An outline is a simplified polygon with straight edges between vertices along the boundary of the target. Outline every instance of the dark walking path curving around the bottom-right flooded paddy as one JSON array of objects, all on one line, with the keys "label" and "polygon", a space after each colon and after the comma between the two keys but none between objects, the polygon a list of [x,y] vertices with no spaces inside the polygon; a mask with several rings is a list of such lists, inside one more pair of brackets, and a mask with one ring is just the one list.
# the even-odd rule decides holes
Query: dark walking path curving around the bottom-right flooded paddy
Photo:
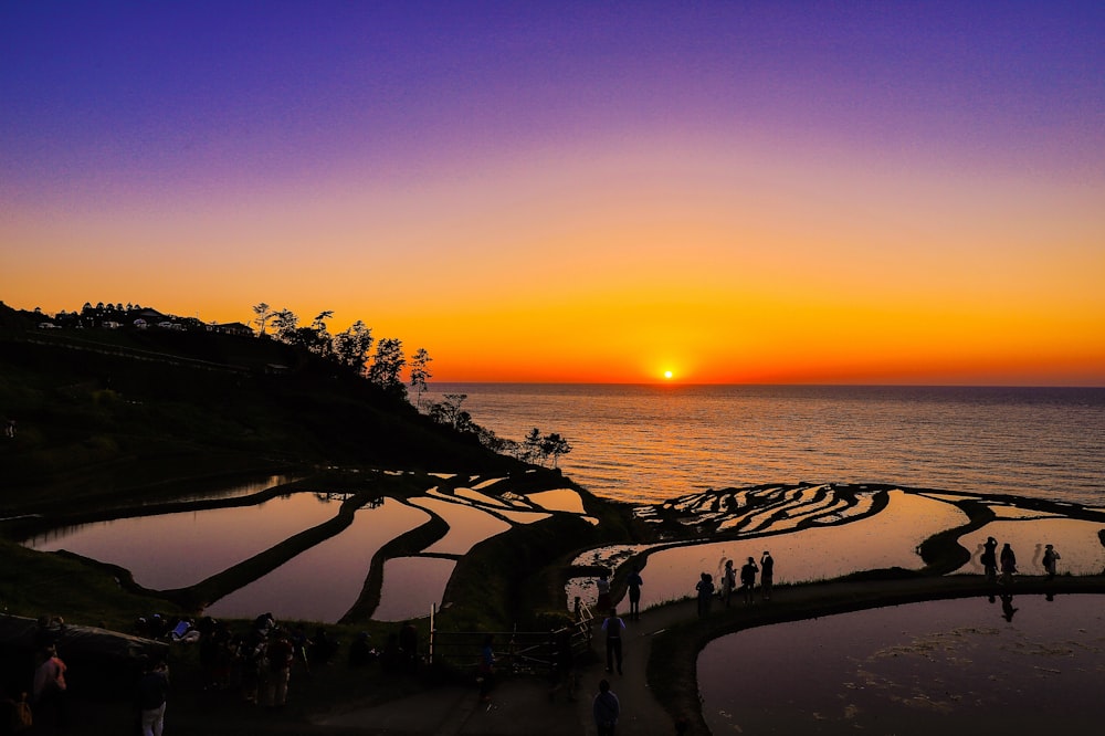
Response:
[{"label": "dark walking path curving around the bottom-right flooded paddy", "polygon": [[[1062,577],[1053,583],[1038,578],[1022,578],[1008,590],[1017,595],[1042,595],[1045,591],[1105,592],[1103,577]],[[746,607],[734,601],[733,608],[722,612],[714,602],[714,612],[697,623],[696,602],[676,601],[641,613],[639,621],[625,621],[623,638],[623,675],[606,672],[604,642],[596,622],[594,654],[592,661],[577,667],[575,700],[560,693],[556,701],[549,698],[548,682],[539,677],[518,676],[503,680],[492,693],[491,703],[478,701],[475,687],[442,686],[411,695],[383,705],[329,715],[315,721],[318,726],[340,734],[369,736],[499,736],[532,734],[534,736],[564,736],[565,734],[597,734],[591,716],[591,701],[599,688],[599,681],[607,679],[611,691],[621,702],[620,734],[640,736],[675,733],[673,717],[664,709],[648,680],[649,658],[657,634],[672,629],[681,645],[673,660],[693,660],[699,640],[760,625],[772,621],[788,621],[814,616],[860,610],[877,606],[899,604],[911,601],[966,596],[985,596],[990,591],[977,576],[945,576],[882,581],[835,581],[796,587],[777,587],[775,601]],[[667,664],[665,664],[667,666]],[[687,667],[686,662],[671,662],[676,670]],[[666,702],[686,703],[692,729],[703,733],[704,724],[697,711],[690,712],[697,703],[697,685],[693,669],[686,677],[677,680],[681,693],[665,693]],[[684,682],[686,680],[687,682]]]}]

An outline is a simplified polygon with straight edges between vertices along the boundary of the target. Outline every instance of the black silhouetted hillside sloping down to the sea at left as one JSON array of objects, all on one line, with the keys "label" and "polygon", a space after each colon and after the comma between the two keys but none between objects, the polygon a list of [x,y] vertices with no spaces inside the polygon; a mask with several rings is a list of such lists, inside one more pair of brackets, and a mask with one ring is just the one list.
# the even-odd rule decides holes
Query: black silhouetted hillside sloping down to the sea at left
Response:
[{"label": "black silhouetted hillside sloping down to the sea at left", "polygon": [[42,328],[0,304],[0,514],[127,503],[228,473],[517,466],[367,380],[272,339]]}]

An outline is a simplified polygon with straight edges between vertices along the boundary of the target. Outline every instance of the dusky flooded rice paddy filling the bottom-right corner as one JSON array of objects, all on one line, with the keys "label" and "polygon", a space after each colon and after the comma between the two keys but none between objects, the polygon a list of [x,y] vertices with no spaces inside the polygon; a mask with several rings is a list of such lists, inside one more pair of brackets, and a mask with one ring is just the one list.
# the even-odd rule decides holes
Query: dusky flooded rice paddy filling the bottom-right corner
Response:
[{"label": "dusky flooded rice paddy filling the bottom-right corner", "polygon": [[1105,597],[887,607],[749,629],[697,663],[715,734],[1092,734]]}]

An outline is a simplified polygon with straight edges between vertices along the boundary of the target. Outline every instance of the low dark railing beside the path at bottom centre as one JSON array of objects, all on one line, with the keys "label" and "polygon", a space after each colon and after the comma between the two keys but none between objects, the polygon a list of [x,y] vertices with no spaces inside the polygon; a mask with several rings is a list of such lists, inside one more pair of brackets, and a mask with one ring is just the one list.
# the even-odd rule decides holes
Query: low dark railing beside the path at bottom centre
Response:
[{"label": "low dark railing beside the path at bottom centre", "polygon": [[579,620],[555,631],[439,631],[436,610],[430,611],[429,662],[459,671],[475,669],[487,637],[492,638],[495,669],[509,674],[549,674],[557,660],[557,642],[569,638],[571,651],[580,656],[591,649],[593,617],[586,606]]}]

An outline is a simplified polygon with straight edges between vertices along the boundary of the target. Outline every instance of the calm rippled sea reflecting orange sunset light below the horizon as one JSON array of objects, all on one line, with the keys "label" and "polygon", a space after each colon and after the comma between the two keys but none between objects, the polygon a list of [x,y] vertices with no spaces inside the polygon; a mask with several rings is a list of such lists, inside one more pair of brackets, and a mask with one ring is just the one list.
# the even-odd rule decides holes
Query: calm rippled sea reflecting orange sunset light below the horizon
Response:
[{"label": "calm rippled sea reflecting orange sunset light below the horizon", "polygon": [[572,445],[592,493],[890,483],[1105,505],[1105,388],[434,383],[473,420]]}]

